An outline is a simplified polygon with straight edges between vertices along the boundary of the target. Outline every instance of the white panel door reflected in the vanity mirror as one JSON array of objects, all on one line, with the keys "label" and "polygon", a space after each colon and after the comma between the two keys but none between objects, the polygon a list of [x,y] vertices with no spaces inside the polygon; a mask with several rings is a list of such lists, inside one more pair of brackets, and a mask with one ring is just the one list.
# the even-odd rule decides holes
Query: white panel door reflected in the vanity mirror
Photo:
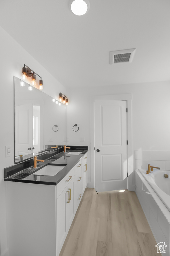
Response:
[{"label": "white panel door reflected in the vanity mirror", "polygon": [[15,156],[28,154],[33,154],[32,104],[15,106]]}]

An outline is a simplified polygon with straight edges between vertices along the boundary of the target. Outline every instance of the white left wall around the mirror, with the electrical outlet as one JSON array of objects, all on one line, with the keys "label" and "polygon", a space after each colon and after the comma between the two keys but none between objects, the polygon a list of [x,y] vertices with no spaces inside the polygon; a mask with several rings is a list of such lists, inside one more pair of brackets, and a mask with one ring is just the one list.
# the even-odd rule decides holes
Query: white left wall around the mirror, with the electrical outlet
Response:
[{"label": "white left wall around the mirror, with the electrical outlet", "polygon": [[[8,255],[6,232],[6,199],[3,168],[14,164],[14,88],[13,76],[21,78],[22,67],[28,65],[42,76],[43,91],[58,98],[65,88],[0,27],[0,256]],[[12,156],[5,156],[5,146],[11,145]]]}]

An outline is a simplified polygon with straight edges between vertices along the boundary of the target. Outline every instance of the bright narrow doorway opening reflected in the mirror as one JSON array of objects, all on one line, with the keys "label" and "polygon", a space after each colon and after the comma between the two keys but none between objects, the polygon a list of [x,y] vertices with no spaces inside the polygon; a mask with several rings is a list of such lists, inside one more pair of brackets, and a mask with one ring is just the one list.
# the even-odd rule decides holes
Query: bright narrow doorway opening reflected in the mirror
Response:
[{"label": "bright narrow doorway opening reflected in the mirror", "polygon": [[40,148],[40,106],[33,106],[33,148],[39,152]]}]

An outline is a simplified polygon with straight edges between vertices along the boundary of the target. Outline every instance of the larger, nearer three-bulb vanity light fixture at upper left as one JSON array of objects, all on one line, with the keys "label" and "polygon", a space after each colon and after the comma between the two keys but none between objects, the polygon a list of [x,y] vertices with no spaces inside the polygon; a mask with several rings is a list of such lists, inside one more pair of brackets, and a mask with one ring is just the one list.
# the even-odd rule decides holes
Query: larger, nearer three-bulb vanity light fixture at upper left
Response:
[{"label": "larger, nearer three-bulb vanity light fixture at upper left", "polygon": [[[34,86],[36,85],[36,75],[39,76],[36,72],[34,72],[31,68],[29,68],[27,65],[24,64],[24,67],[22,68],[22,79],[23,80],[27,80],[27,77],[31,77],[32,81],[31,81],[31,84]],[[35,75],[36,74],[36,75]],[[40,77],[40,80],[39,80],[39,90],[42,90],[43,89],[43,81],[42,81],[42,78],[41,76]],[[31,86],[29,86],[31,87]],[[31,90],[31,89],[29,89]]]}]

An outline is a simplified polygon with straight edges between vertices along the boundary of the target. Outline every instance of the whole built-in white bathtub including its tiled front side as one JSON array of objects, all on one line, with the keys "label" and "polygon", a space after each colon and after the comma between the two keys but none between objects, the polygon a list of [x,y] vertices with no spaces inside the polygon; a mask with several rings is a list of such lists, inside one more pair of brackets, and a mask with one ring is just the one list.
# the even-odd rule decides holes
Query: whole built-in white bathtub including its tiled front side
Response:
[{"label": "whole built-in white bathtub including its tiled front side", "polygon": [[155,246],[164,242],[166,253],[162,255],[170,256],[170,171],[154,169],[146,174],[144,169],[135,170],[135,192],[155,237]]}]

